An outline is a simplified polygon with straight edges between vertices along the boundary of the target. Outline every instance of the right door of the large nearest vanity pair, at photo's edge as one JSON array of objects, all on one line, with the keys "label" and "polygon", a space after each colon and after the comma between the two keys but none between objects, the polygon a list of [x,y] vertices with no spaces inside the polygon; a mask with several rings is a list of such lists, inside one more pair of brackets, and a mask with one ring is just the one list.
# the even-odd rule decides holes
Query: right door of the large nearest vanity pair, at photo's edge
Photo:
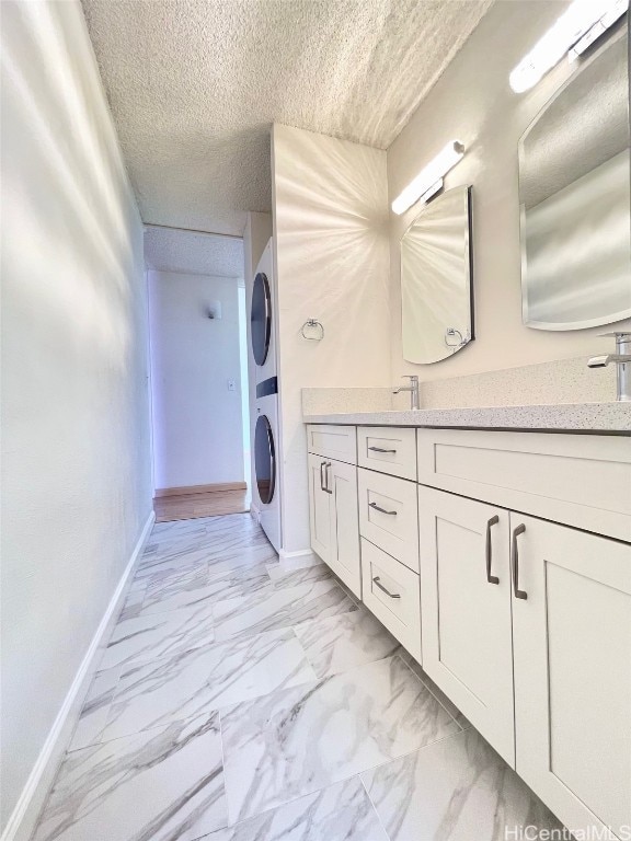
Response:
[{"label": "right door of the large nearest vanity pair, at photo's edge", "polygon": [[631,546],[513,512],[510,527],[517,771],[570,830],[628,838]]}]

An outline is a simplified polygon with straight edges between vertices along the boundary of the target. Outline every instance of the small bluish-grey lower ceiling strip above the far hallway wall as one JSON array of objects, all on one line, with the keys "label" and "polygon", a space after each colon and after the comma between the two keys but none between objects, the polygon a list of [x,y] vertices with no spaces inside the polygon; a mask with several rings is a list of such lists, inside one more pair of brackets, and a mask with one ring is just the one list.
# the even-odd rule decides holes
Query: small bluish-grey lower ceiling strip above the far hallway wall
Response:
[{"label": "small bluish-grey lower ceiling strip above the far hallway wall", "polygon": [[243,277],[243,240],[147,228],[145,263],[159,272]]}]

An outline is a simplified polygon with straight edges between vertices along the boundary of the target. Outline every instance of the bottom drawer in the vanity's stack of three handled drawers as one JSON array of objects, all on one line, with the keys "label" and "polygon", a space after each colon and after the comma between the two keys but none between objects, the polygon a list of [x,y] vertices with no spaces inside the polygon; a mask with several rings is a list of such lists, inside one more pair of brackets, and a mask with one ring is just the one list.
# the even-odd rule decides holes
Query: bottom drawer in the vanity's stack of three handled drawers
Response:
[{"label": "bottom drawer in the vanity's stack of three handled drawers", "polygon": [[421,585],[416,573],[362,538],[364,603],[421,663]]}]

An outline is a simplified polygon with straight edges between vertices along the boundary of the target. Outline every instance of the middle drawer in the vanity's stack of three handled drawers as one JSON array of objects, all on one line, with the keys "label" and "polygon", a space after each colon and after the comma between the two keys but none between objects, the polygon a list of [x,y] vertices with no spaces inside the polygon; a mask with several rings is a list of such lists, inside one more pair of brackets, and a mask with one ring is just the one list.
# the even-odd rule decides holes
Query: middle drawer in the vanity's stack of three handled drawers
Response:
[{"label": "middle drawer in the vanity's stack of three handled drawers", "polygon": [[416,484],[358,470],[359,534],[418,572]]}]

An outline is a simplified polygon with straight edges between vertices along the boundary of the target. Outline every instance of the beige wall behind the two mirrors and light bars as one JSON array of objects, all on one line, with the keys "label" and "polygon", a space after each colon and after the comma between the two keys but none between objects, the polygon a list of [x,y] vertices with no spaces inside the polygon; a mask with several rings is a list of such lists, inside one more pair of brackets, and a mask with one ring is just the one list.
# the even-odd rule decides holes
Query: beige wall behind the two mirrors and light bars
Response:
[{"label": "beige wall behind the two mirrors and light bars", "polygon": [[[401,353],[399,239],[417,212],[391,214],[392,376],[423,380],[510,368],[612,349],[611,327],[550,333],[521,324],[517,142],[571,72],[560,62],[538,85],[515,94],[508,74],[565,8],[550,0],[498,0],[388,150],[390,201],[451,139],[467,147],[446,189],[473,185],[475,335],[469,347],[428,366]],[[619,322],[631,325],[630,321]]]}]

